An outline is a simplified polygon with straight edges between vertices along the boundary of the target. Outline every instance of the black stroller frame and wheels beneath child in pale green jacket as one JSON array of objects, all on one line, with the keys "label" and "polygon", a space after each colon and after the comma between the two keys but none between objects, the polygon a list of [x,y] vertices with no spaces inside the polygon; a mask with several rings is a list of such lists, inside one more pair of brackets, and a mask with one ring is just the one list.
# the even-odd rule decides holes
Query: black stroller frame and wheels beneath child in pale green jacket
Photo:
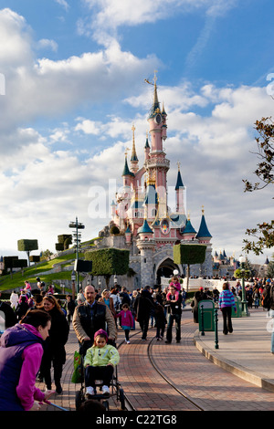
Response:
[{"label": "black stroller frame and wheels beneath child in pale green jacket", "polygon": [[[85,369],[84,369],[85,351],[81,346],[79,348],[79,353],[80,353],[80,384],[81,384],[81,386],[80,386],[80,390],[78,392],[76,392],[76,396],[75,396],[76,410],[79,410],[80,405],[87,400],[87,398],[86,398],[86,385],[85,385]],[[113,376],[111,379],[110,393],[103,394],[101,392],[102,380],[97,380],[95,382],[95,384],[96,384],[96,393],[92,395],[92,400],[99,401],[105,407],[106,411],[109,411],[109,409],[110,409],[109,399],[111,397],[116,396],[116,401],[121,404],[121,410],[125,410],[125,397],[124,397],[124,392],[121,389],[121,384],[118,381],[117,366],[114,368]]]}]

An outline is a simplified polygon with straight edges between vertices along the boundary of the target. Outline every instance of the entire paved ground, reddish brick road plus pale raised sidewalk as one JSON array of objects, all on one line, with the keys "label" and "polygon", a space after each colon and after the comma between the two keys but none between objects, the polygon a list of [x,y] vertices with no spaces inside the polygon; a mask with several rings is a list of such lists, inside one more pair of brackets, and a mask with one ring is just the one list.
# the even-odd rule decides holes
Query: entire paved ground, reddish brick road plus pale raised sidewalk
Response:
[{"label": "entire paved ground, reddish brick road plus pale raised sidewalk", "polygon": [[[205,331],[202,336],[189,310],[183,313],[179,344],[153,340],[154,328],[149,330],[147,341],[141,340],[137,330],[132,331],[131,344],[123,343],[119,349],[121,387],[134,409],[141,412],[273,411],[274,355],[270,353],[269,321],[266,311],[252,309],[250,317],[234,318],[234,332],[225,336],[219,313],[218,349],[215,332]],[[119,330],[119,339],[122,338]],[[53,403],[69,411],[75,411],[75,394],[79,390],[79,384],[70,382],[75,350],[78,345],[70,330],[63,394],[52,398]],[[43,384],[39,387],[43,388]],[[110,405],[111,410],[120,408],[114,400]],[[58,411],[43,405],[45,409]]]}]

